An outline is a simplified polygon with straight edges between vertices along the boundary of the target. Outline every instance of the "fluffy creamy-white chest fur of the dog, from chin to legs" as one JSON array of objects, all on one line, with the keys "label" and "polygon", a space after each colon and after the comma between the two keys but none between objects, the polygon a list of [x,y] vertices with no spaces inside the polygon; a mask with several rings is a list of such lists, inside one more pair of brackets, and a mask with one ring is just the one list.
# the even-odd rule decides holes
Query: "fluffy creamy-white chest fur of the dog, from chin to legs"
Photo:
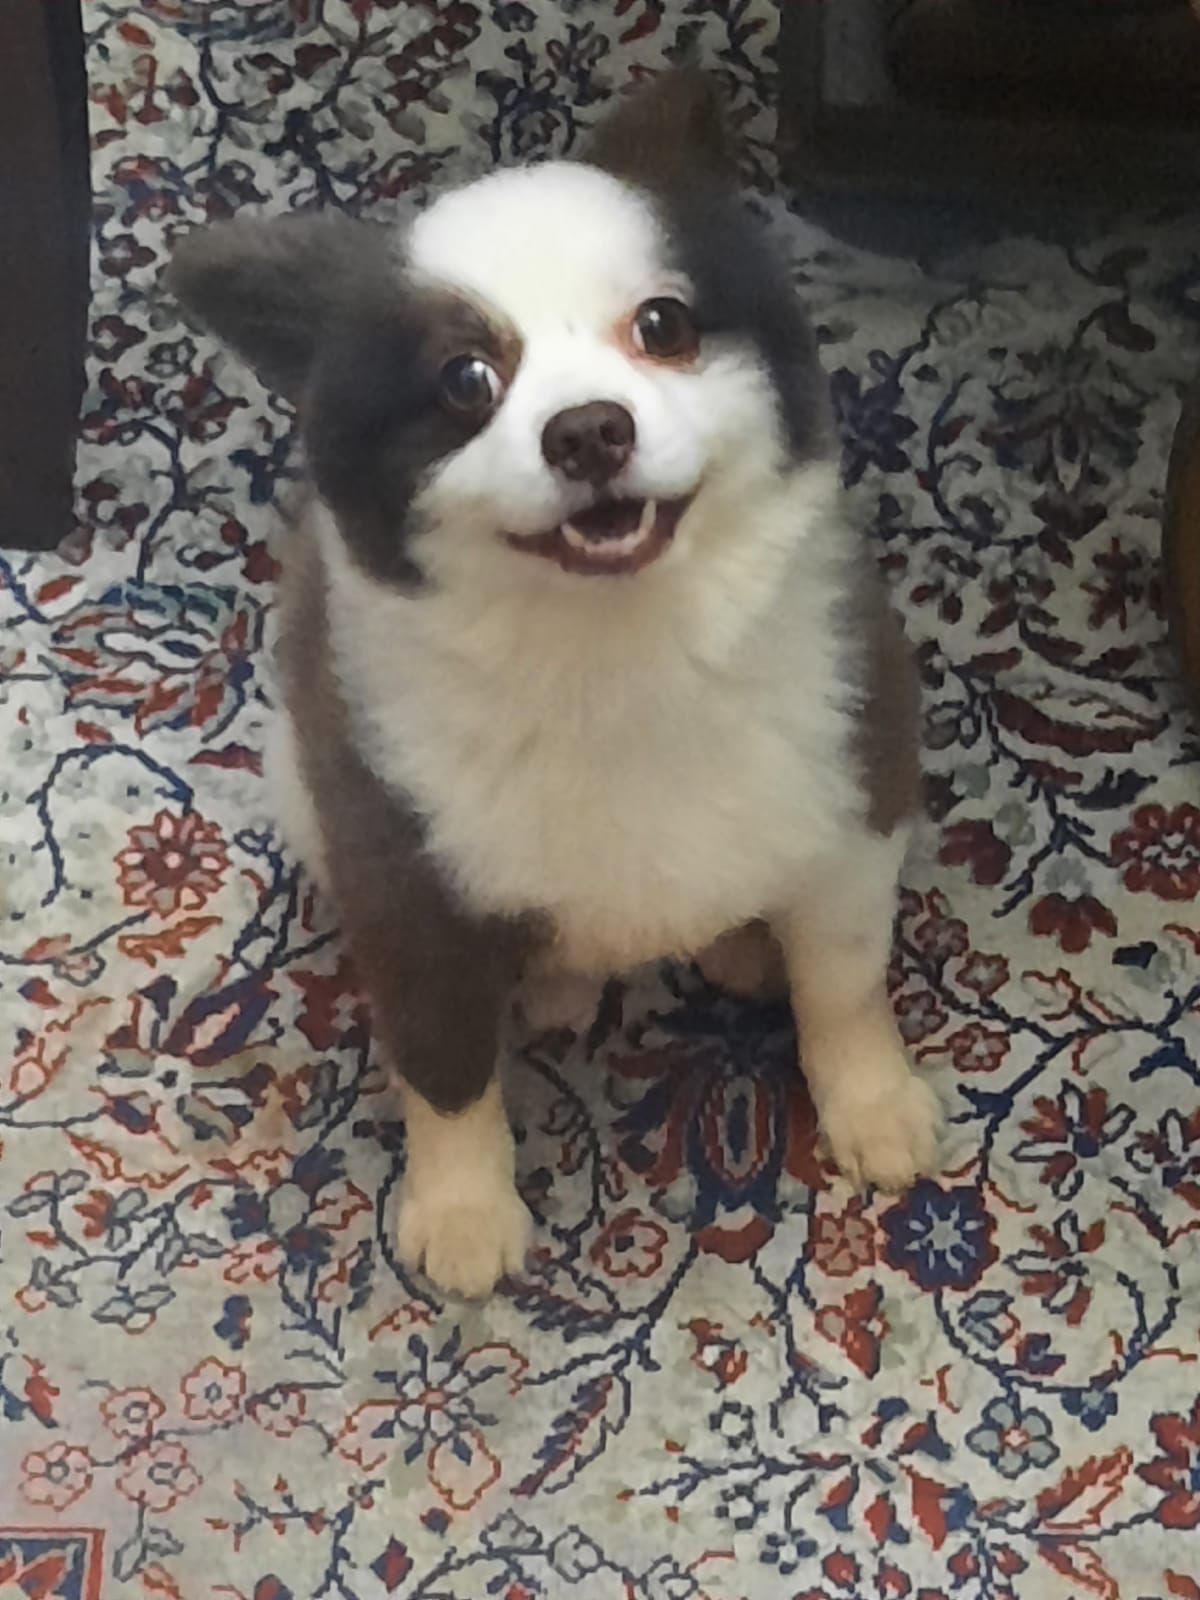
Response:
[{"label": "fluffy creamy-white chest fur of the dog, from chin to legs", "polygon": [[763,544],[725,581],[709,562],[704,592],[682,563],[474,605],[381,595],[334,541],[365,755],[464,896],[549,912],[565,965],[622,970],[770,912],[861,810],[827,541],[790,538],[770,573]]}]

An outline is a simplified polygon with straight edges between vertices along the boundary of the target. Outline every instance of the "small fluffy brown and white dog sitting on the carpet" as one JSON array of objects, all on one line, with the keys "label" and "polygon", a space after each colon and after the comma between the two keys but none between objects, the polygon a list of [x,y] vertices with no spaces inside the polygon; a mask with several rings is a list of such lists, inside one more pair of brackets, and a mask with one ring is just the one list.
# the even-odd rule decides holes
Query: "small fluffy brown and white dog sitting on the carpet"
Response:
[{"label": "small fluffy brown and white dog sitting on the carpet", "polygon": [[587,162],[173,262],[299,410],[272,765],[403,1085],[400,1254],[466,1294],[530,1237],[496,1069],[531,974],[778,965],[842,1170],[934,1155],[885,984],[914,664],[717,115],[669,74]]}]

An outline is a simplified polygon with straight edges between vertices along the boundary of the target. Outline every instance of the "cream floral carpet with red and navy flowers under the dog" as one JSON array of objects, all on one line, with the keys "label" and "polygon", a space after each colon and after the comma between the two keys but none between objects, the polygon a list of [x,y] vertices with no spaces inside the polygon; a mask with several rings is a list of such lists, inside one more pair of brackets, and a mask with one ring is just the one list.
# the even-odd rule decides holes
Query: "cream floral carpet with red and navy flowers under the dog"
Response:
[{"label": "cream floral carpet with red and navy flowers under the dog", "polygon": [[82,526],[0,558],[0,1595],[1200,1600],[1200,747],[1155,554],[1200,256],[923,269],[763,202],[920,646],[893,968],[946,1170],[856,1198],[787,1016],[669,968],[512,1062],[528,1270],[394,1258],[403,1128],[262,795],[291,418],[173,230],[386,211],[771,8],[90,0]]}]

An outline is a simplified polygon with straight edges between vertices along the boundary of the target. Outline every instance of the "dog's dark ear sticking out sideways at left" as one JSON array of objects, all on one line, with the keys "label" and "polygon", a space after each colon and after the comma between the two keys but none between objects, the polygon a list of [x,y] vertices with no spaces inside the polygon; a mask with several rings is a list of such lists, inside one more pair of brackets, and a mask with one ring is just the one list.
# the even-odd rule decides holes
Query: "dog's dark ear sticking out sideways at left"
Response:
[{"label": "dog's dark ear sticking out sideways at left", "polygon": [[237,218],[184,235],[166,285],[200,326],[298,400],[322,334],[400,286],[397,237],[338,214]]}]

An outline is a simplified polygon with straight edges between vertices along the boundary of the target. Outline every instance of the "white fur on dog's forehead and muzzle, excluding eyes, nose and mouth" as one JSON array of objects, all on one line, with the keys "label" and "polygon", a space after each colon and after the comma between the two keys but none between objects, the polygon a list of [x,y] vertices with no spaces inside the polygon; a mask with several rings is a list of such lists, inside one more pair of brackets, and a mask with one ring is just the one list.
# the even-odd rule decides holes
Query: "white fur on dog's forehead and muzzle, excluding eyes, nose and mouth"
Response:
[{"label": "white fur on dog's forehead and muzzle, excluding eyes, nose and mouth", "polygon": [[[709,341],[693,366],[638,357],[621,342],[637,307],[654,296],[691,298],[669,264],[646,198],[595,168],[547,163],[494,173],[446,195],[413,227],[413,272],[475,298],[522,341],[517,376],[490,424],[443,462],[414,510],[430,525],[421,562],[442,584],[491,584],[482,546],[498,534],[542,533],[590,502],[542,459],[555,413],[614,400],[634,416],[637,446],[613,488],[638,499],[704,493],[685,518],[677,550],[704,522],[718,480],[742,480],[747,443],[758,477],[782,454],[771,386],[752,350]],[[546,563],[502,547],[523,576]]]}]

